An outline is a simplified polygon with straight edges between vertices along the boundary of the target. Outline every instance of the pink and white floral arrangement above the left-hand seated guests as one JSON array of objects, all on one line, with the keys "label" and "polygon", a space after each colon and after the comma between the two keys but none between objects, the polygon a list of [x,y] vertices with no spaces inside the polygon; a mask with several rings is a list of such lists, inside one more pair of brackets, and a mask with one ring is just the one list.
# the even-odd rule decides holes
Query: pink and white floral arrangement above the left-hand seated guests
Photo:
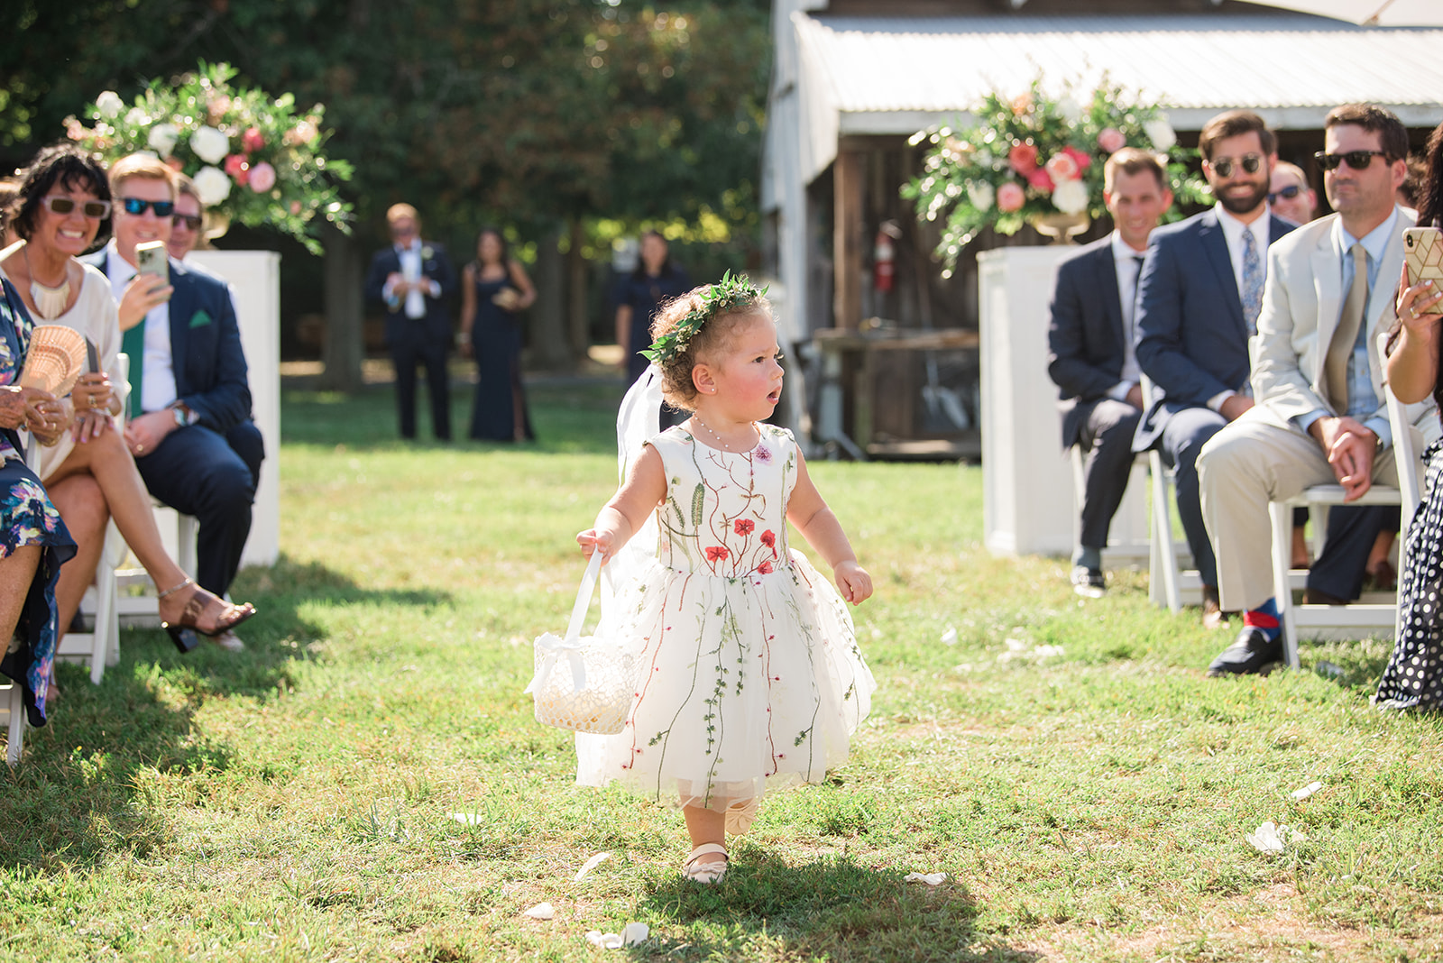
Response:
[{"label": "pink and white floral arrangement above the left-hand seated guests", "polygon": [[107,164],[152,153],[195,182],[208,213],[276,228],[320,254],[320,222],[351,229],[338,185],[352,167],[326,156],[325,107],[297,111],[293,95],[232,86],[234,78],[229,63],[201,61],[193,74],[152,81],[130,105],[102,92],[85,111],[91,125],[66,117],[65,131]]}]

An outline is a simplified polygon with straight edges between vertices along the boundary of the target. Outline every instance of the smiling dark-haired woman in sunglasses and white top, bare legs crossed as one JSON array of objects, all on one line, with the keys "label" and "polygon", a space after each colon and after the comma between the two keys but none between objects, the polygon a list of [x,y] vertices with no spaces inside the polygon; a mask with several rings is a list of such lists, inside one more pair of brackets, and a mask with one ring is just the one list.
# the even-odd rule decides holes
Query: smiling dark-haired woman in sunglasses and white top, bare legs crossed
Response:
[{"label": "smiling dark-haired woman in sunglasses and white top, bare legs crossed", "polygon": [[186,630],[214,637],[255,610],[229,605],[195,585],[166,554],[150,494],[115,427],[127,394],[117,369],[117,306],[105,275],[75,259],[95,245],[102,229],[108,234],[110,210],[110,182],[100,164],[71,146],[46,148],[26,170],[16,198],[12,226],[22,241],[0,261],[0,274],[14,283],[36,323],[78,330],[95,345],[100,362],[100,370],[82,375],[71,391],[74,424],[53,447],[42,448],[38,471],[74,533],[101,533],[81,535],[75,561],[61,571],[55,593],[61,630],[95,577],[108,516],[160,590],[160,620],[186,652],[193,646]]}]

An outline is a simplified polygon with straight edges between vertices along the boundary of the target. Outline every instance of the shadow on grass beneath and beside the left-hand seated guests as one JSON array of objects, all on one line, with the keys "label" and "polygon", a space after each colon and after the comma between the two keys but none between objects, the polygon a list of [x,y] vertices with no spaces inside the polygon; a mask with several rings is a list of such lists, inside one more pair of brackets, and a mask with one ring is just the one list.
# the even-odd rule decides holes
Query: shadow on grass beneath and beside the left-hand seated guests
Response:
[{"label": "shadow on grass beneath and beside the left-hand seated guests", "polygon": [[234,595],[258,608],[238,629],[244,653],[202,640],[180,654],[160,630],[127,629],[120,665],[98,686],[88,666],[58,667],[62,695],[49,724],[26,734],[19,767],[0,768],[7,830],[0,833],[0,869],[63,874],[163,849],[173,835],[166,813],[176,800],[159,794],[176,793],[182,806],[203,809],[211,780],[182,777],[244,764],[225,740],[195,725],[196,714],[211,699],[264,705],[296,686],[296,667],[315,657],[309,643],[323,634],[302,605],[450,603],[443,591],[364,590],[325,565],[284,556],[244,571]]}]

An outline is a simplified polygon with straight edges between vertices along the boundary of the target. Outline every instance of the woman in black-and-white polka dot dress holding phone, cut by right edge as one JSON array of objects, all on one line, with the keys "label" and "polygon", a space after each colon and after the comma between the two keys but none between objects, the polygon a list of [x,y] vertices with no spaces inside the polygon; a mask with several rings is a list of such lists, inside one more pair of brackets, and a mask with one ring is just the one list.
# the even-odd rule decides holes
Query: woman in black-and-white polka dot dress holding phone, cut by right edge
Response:
[{"label": "woman in black-and-white polka dot dress holding phone, cut by right edge", "polygon": [[[1443,216],[1443,125],[1429,138],[1429,176],[1418,203],[1418,225],[1437,226]],[[1398,401],[1420,402],[1430,394],[1443,409],[1439,382],[1439,321],[1443,291],[1433,281],[1400,284],[1398,324],[1388,355],[1388,385]],[[1380,708],[1443,709],[1443,441],[1429,445],[1427,494],[1408,528],[1408,554],[1398,591],[1400,631],[1392,657],[1378,682]]]}]

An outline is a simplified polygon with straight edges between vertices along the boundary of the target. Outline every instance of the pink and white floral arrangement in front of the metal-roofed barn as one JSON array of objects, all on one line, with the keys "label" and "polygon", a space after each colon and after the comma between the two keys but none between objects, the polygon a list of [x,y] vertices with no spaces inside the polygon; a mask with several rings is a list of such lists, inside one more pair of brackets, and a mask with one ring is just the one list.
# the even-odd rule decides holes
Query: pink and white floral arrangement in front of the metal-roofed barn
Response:
[{"label": "pink and white floral arrangement in front of the metal-roofed barn", "polygon": [[1105,75],[1091,98],[1078,98],[1072,84],[1049,97],[1039,76],[1017,97],[987,94],[974,117],[970,127],[929,127],[909,141],[929,146],[902,196],[915,202],[918,221],[942,219],[935,254],[944,277],[986,228],[1010,235],[1052,215],[1101,218],[1102,164],[1123,147],[1165,159],[1176,198],[1169,219],[1180,206],[1212,202],[1198,151],[1177,146],[1167,112]]}]

